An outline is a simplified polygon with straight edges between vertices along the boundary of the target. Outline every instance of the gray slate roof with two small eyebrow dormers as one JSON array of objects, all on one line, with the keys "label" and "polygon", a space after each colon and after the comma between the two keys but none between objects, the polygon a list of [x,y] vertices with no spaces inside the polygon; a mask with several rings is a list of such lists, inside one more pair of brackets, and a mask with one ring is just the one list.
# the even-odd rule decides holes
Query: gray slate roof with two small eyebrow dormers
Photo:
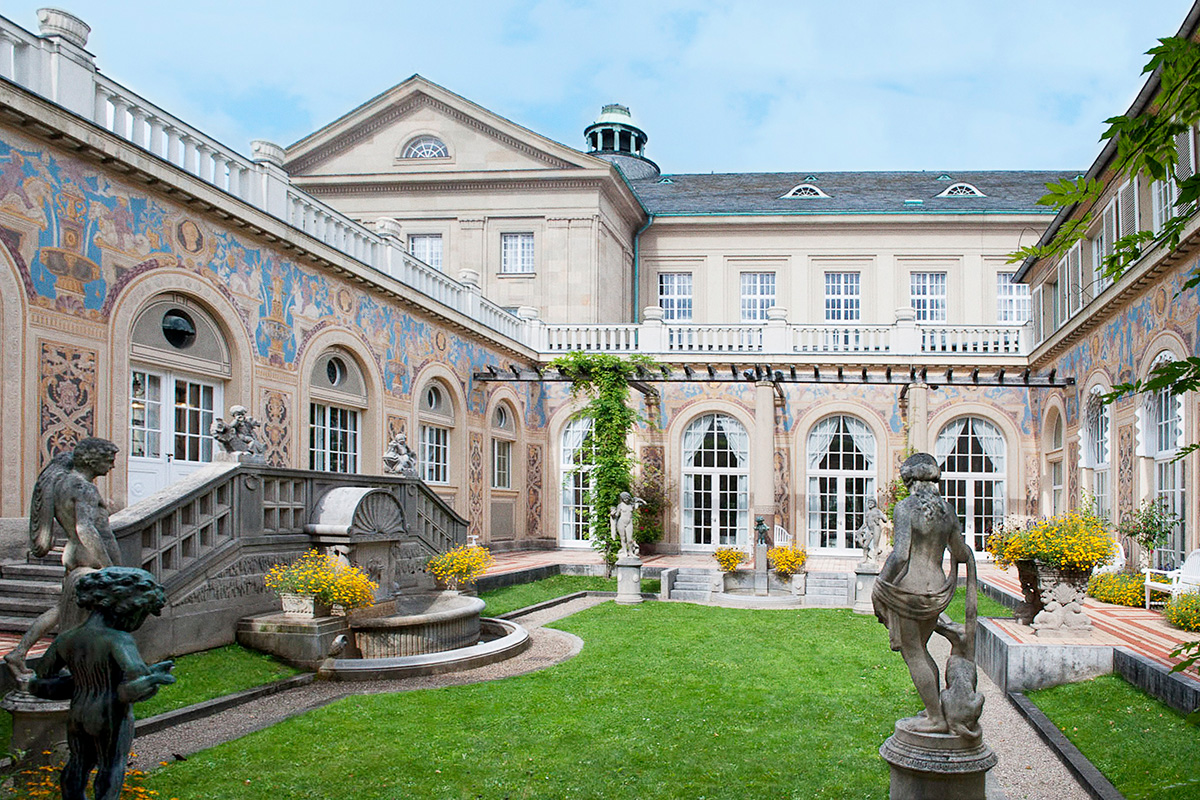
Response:
[{"label": "gray slate roof with two small eyebrow dormers", "polygon": [[[654,215],[1054,213],[1052,209],[1036,204],[1045,194],[1045,185],[1079,174],[1079,170],[726,173],[662,175],[629,184],[646,210]],[[662,182],[664,179],[671,182]],[[937,197],[956,182],[971,184],[986,197]],[[812,184],[829,198],[781,199],[800,184]]]}]

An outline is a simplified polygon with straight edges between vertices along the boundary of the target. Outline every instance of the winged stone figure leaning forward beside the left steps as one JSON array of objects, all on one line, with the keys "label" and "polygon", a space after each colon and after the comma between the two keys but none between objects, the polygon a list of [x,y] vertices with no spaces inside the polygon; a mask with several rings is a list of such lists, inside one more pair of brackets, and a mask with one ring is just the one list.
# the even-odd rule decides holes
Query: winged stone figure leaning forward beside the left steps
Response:
[{"label": "winged stone figure leaning forward beside the left steps", "polygon": [[37,476],[29,511],[29,551],[43,558],[54,546],[55,534],[66,536],[62,548],[62,594],[56,606],[42,613],[4,660],[18,679],[32,674],[25,666],[29,649],[54,630],[82,621],[74,602],[74,584],[91,571],[120,561],[116,539],[108,525],[108,507],[92,482],[113,469],[116,445],[107,439],[88,438],[70,453],[55,456]]}]

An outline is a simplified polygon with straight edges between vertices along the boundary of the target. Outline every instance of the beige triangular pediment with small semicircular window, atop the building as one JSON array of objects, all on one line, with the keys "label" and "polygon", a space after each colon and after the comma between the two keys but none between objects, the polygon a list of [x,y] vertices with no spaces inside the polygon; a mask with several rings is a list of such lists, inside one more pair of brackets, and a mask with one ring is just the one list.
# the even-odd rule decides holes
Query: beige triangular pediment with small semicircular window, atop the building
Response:
[{"label": "beige triangular pediment with small semicircular window, atop the building", "polygon": [[[416,142],[444,155],[406,157]],[[414,76],[287,149],[290,175],[403,175],[606,169],[607,163],[521,127]]]}]

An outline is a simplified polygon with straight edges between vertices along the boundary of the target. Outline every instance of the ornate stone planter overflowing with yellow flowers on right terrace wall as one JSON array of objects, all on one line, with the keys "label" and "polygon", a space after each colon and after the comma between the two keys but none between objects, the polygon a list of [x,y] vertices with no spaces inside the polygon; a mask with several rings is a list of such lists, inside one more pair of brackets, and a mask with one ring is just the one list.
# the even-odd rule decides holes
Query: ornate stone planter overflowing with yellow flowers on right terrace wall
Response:
[{"label": "ornate stone planter overflowing with yellow flowers on right terrace wall", "polygon": [[[1052,604],[1049,612],[1056,615],[1056,626],[1086,627],[1090,622],[1082,613],[1082,599],[1087,579],[1093,569],[1112,560],[1116,542],[1104,519],[1088,506],[1057,517],[1030,521],[1021,527],[1002,527],[989,537],[988,549],[998,566],[1016,564],[1019,575],[1025,563],[1021,590],[1026,604],[1042,606],[1032,615],[1031,622],[1036,627],[1039,620],[1043,627],[1049,625],[1046,604]],[[1036,575],[1037,589],[1033,593],[1026,589],[1030,563]],[[1022,610],[1026,613],[1018,619],[1025,622],[1030,614],[1027,609]],[[1057,625],[1058,621],[1063,625]]]}]

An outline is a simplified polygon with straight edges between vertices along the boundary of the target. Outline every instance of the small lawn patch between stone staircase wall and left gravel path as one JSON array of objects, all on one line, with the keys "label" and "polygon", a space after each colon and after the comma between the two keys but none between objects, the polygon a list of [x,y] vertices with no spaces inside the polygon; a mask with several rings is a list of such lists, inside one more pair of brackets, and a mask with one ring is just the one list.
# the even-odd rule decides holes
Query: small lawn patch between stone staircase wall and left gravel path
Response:
[{"label": "small lawn patch between stone staircase wall and left gravel path", "polygon": [[[265,652],[230,644],[175,658],[176,681],[134,706],[139,720],[300,674]],[[7,715],[6,715],[7,716]]]}]

